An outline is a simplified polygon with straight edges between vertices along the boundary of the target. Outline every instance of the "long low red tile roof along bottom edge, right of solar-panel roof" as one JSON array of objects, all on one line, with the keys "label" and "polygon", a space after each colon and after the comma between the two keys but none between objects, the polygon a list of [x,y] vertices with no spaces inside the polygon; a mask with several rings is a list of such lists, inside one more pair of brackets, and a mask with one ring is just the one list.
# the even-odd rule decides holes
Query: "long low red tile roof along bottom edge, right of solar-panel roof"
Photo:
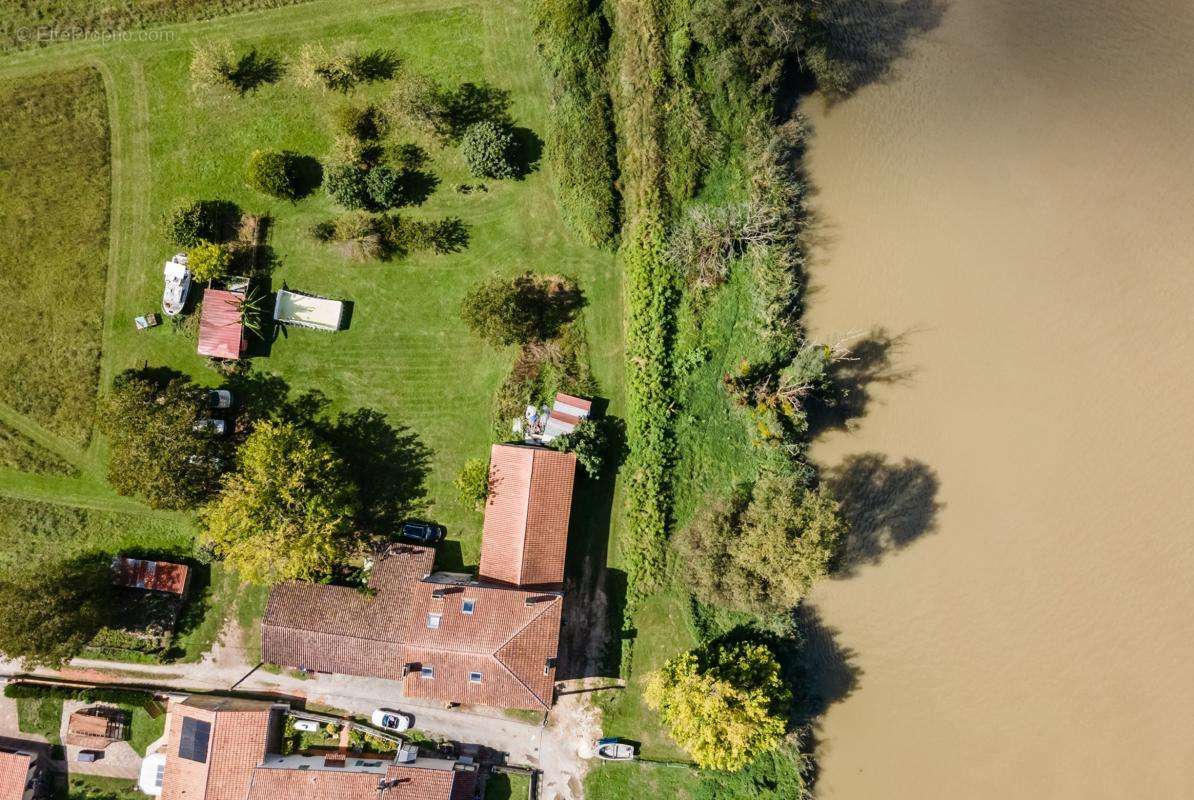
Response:
[{"label": "long low red tile roof along bottom edge, right of solar-panel roof", "polygon": [[[378,792],[382,780],[384,793]],[[475,781],[472,769],[401,764],[390,764],[384,774],[263,767],[253,770],[247,800],[472,800]]]}]

